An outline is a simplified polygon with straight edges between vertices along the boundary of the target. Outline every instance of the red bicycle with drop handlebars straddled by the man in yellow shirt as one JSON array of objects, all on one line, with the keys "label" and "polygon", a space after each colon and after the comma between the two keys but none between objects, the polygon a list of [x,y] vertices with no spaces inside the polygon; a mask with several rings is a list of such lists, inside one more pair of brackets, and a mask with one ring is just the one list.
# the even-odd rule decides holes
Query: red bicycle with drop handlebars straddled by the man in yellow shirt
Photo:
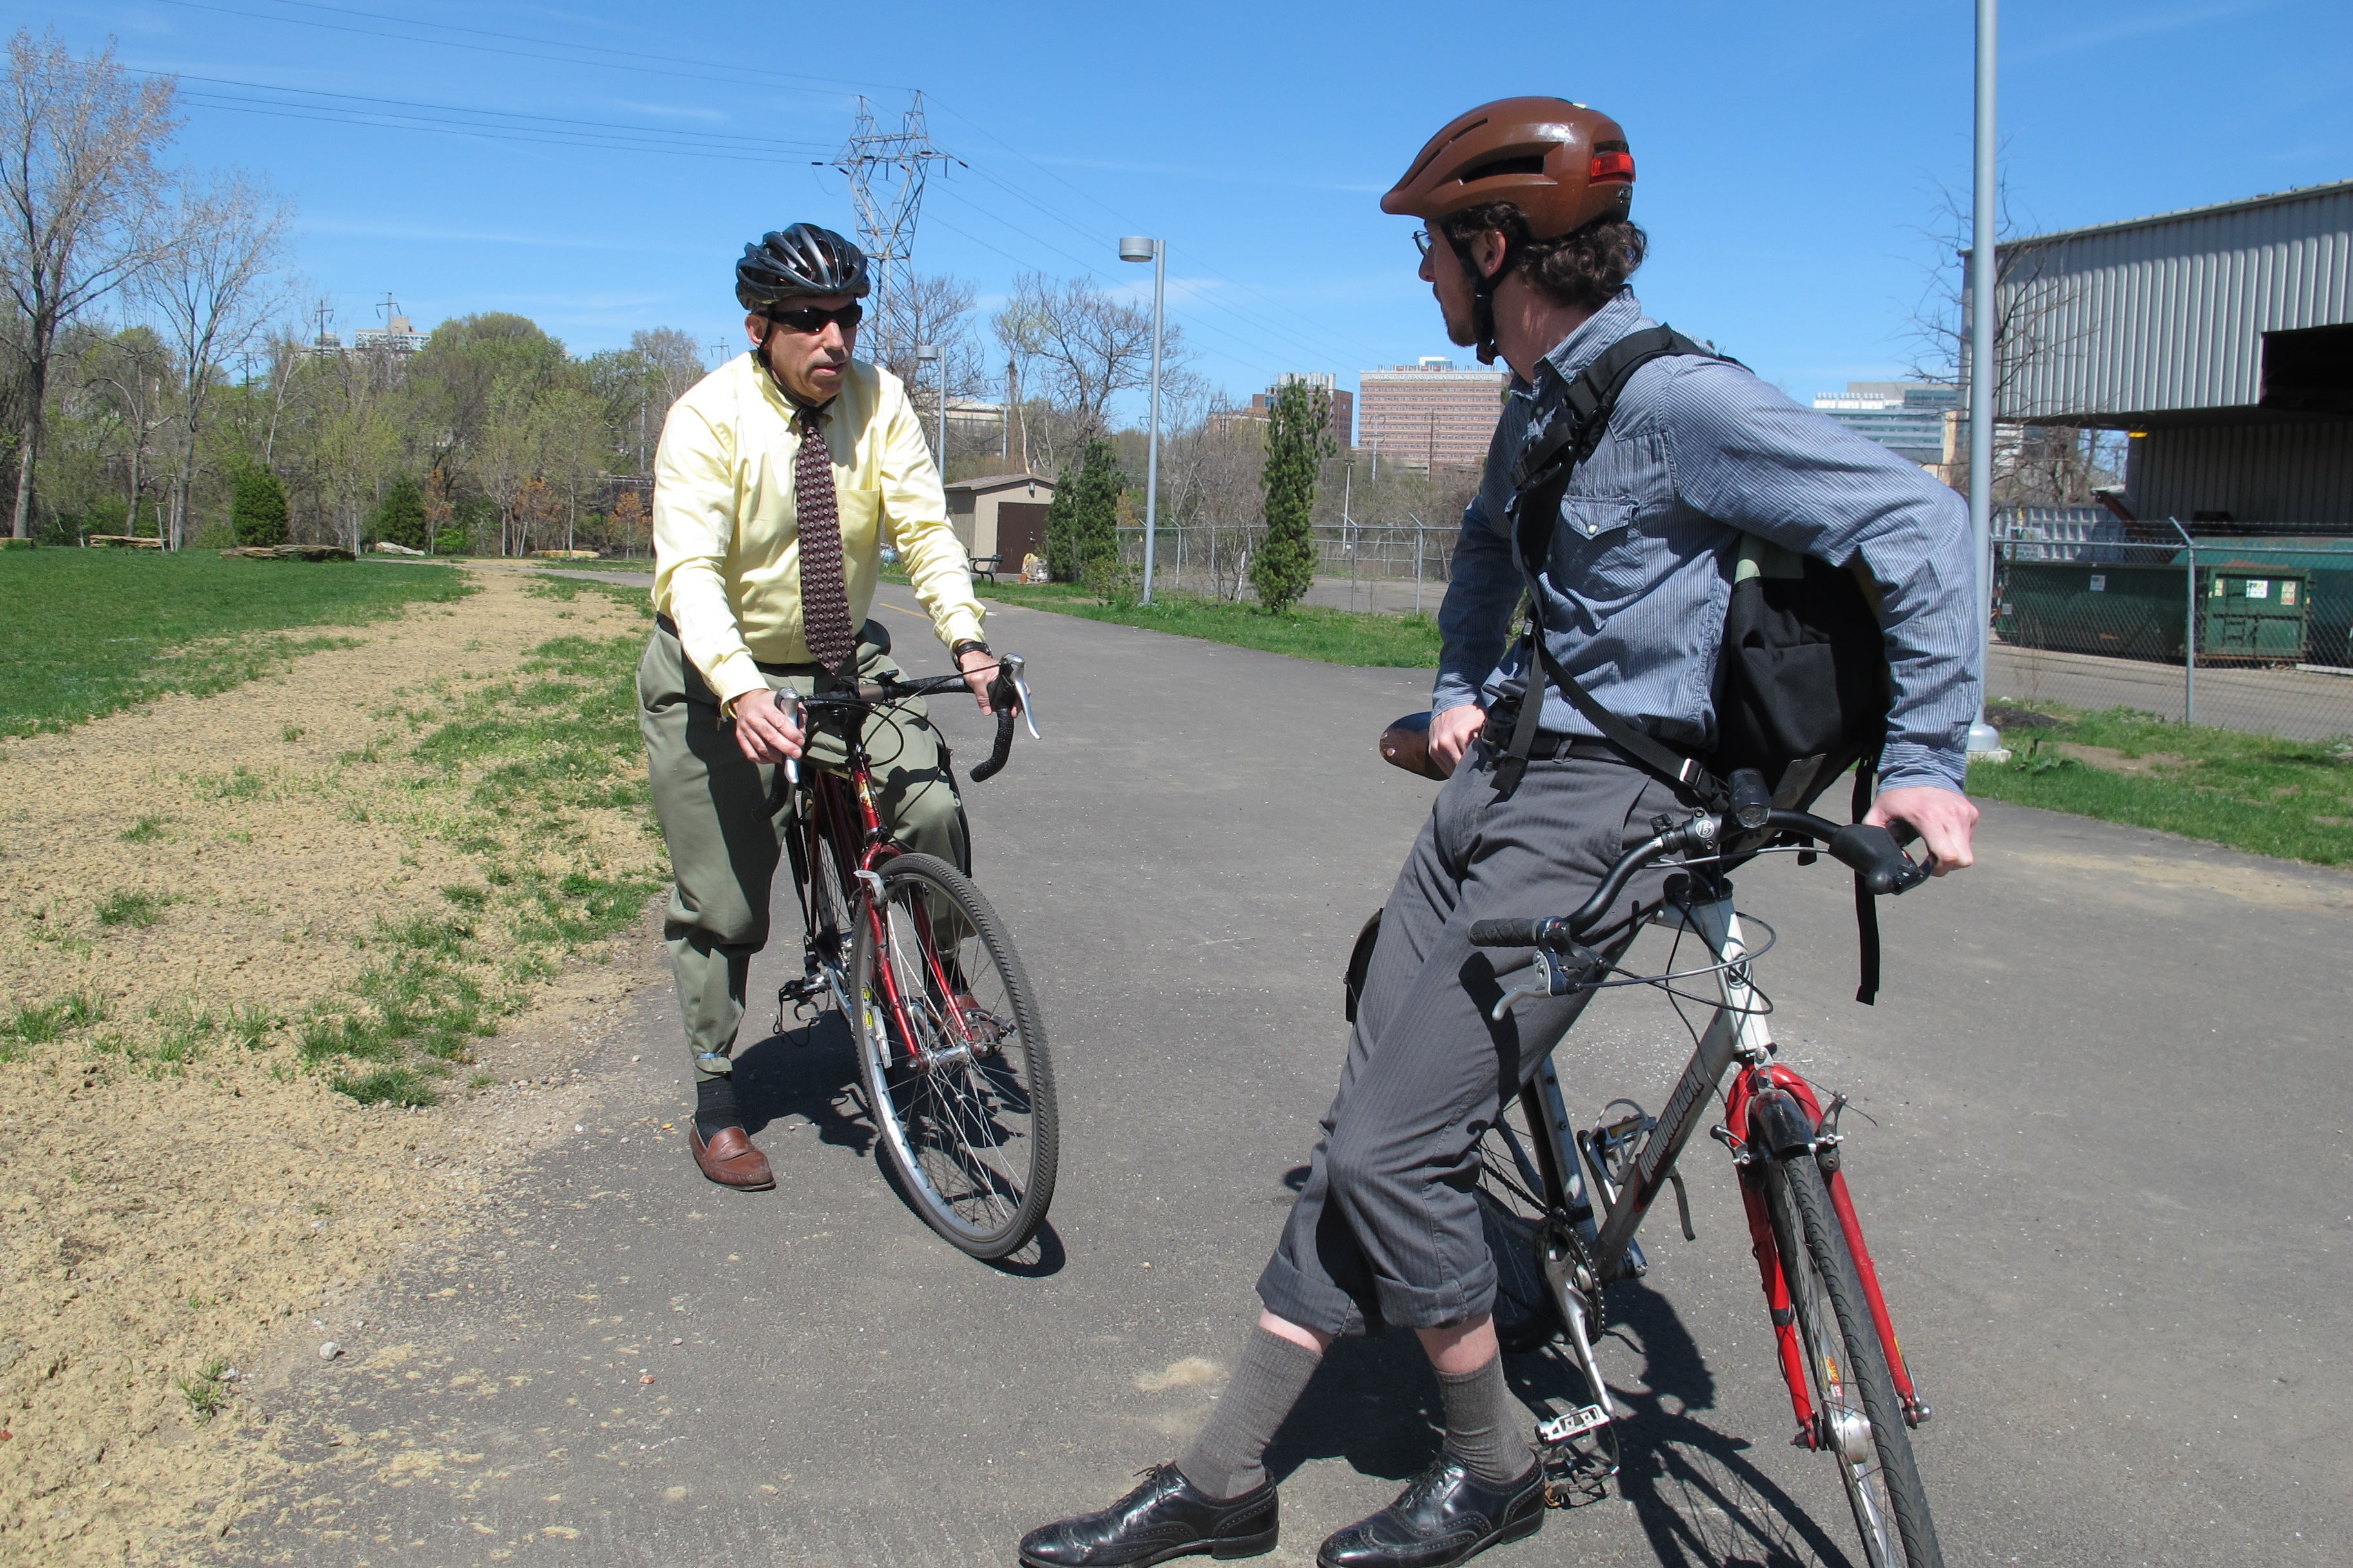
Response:
[{"label": "red bicycle with drop handlebars straddled by the man in yellow shirt", "polygon": [[[882,825],[866,752],[871,712],[946,691],[965,691],[965,677],[779,693],[802,726],[838,726],[847,762],[840,771],[776,769],[769,813],[788,813],[784,844],[807,931],[805,971],[776,992],[776,1032],[788,1011],[831,999],[856,1044],[875,1143],[915,1213],[974,1258],[1005,1258],[1038,1234],[1054,1201],[1059,1117],[1045,1016],[967,867],[913,853]],[[1005,766],[1014,715],[1028,722],[1021,658],[998,661],[988,705],[998,736],[974,780]],[[1035,722],[1028,731],[1038,736]],[[953,769],[946,741],[941,757]]]}]

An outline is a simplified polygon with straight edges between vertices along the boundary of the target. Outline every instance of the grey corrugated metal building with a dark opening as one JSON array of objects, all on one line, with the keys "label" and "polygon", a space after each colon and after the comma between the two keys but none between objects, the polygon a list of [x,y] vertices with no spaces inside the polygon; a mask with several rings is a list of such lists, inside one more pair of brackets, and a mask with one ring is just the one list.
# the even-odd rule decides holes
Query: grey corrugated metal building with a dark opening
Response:
[{"label": "grey corrugated metal building with a dark opening", "polygon": [[2012,240],[2000,418],[2132,430],[2139,517],[2353,524],[2353,181]]}]

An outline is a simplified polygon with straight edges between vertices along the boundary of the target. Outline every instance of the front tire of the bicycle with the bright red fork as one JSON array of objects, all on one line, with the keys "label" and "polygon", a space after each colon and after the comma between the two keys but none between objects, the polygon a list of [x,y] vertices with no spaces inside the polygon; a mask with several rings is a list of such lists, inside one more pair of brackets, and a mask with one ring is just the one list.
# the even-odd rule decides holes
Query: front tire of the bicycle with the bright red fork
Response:
[{"label": "front tire of the bicycle with the bright red fork", "polygon": [[[1828,1439],[1824,1450],[1838,1460],[1864,1559],[1871,1568],[1944,1568],[1904,1403],[1814,1157],[1765,1161],[1765,1204],[1805,1354],[1817,1443]],[[1861,1394],[1861,1410],[1854,1410],[1854,1394]],[[1873,1462],[1840,1446],[1842,1434],[1854,1434],[1857,1415],[1868,1422]]]}]

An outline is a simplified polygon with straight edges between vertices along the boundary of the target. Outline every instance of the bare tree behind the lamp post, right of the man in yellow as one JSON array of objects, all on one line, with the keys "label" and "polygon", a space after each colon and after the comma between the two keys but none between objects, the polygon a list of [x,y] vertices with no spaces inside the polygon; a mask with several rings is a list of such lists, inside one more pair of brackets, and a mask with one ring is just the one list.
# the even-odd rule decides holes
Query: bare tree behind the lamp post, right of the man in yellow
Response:
[{"label": "bare tree behind the lamp post, right of the man in yellow", "polygon": [[[1028,421],[1031,449],[1047,463],[1056,449],[1075,451],[1087,437],[1104,435],[1111,400],[1151,376],[1153,313],[1104,294],[1085,277],[1054,282],[1045,273],[1024,273],[993,327],[1014,357],[1021,388],[1056,416],[1042,421],[1042,430],[1040,421]],[[1162,378],[1184,360],[1176,327],[1165,331],[1160,360]]]}]

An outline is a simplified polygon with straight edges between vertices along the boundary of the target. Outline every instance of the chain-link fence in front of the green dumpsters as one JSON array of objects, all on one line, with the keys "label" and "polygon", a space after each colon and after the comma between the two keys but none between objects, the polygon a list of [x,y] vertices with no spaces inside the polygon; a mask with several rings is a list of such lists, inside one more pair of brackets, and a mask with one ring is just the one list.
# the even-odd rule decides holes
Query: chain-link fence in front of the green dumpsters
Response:
[{"label": "chain-link fence in front of the green dumpsters", "polygon": [[2353,538],[2287,524],[1995,520],[1991,701],[2353,736]]}]

